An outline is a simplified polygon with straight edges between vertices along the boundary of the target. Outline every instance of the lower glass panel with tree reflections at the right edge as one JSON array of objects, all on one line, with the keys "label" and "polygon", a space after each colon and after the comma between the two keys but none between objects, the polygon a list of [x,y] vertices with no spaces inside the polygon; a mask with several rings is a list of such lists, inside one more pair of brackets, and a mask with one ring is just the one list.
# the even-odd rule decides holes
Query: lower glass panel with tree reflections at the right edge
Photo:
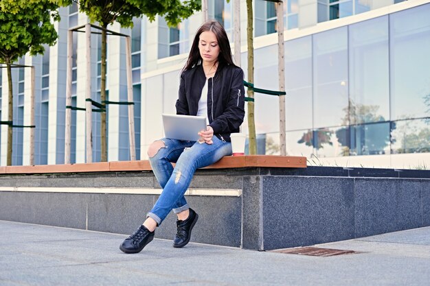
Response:
[{"label": "lower glass panel with tree reflections at the right edge", "polygon": [[430,119],[393,121],[392,154],[430,152]]}]

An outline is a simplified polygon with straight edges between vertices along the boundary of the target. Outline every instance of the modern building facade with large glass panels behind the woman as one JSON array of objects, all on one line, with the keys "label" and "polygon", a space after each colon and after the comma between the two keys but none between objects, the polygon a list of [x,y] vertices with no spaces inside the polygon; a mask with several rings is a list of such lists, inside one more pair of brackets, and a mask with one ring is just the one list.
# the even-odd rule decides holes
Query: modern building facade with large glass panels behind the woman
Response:
[{"label": "modern building facade with large glass panels behind the woman", "polygon": [[[225,25],[233,39],[233,1],[208,0],[208,14]],[[400,3],[403,2],[403,3]],[[398,4],[397,4],[398,3]],[[394,166],[396,158],[418,154],[430,165],[430,1],[314,0],[285,2],[284,61],[286,86],[287,154],[332,162],[367,158]],[[255,86],[278,90],[278,45],[275,3],[256,0],[254,5]],[[390,6],[390,7],[388,7]],[[240,0],[242,69],[247,80],[246,3]],[[369,11],[374,13],[367,13]],[[87,23],[73,3],[62,8],[59,25],[61,47],[47,48],[36,79],[36,164],[62,162],[64,139],[52,138],[50,117],[63,114],[52,103],[52,90],[65,100],[65,85],[52,78],[65,78],[67,29]],[[132,29],[109,27],[131,36],[135,145],[137,159],[146,159],[146,149],[163,136],[161,113],[174,113],[179,74],[185,63],[201,12],[168,27],[161,17],[133,19]],[[245,19],[244,19],[245,18]],[[83,33],[73,33],[72,106],[84,106],[85,54]],[[100,101],[100,36],[92,36],[92,97]],[[59,45],[59,44],[58,44]],[[82,55],[82,56],[80,56]],[[25,60],[20,60],[25,64]],[[58,67],[56,74],[53,69]],[[27,73],[14,71],[14,122],[25,123],[28,106],[24,97]],[[3,75],[3,76],[1,76]],[[7,81],[0,70],[1,110],[7,106]],[[108,38],[106,91],[109,100],[126,102],[124,39]],[[49,95],[49,96],[48,96]],[[279,100],[255,95],[255,121],[260,154],[279,154]],[[58,100],[58,102],[60,102]],[[71,163],[83,163],[84,113],[71,117]],[[1,114],[1,113],[0,113]],[[2,114],[2,120],[6,115]],[[63,118],[59,117],[59,118]],[[126,106],[108,106],[108,160],[129,160],[128,112]],[[93,113],[93,161],[100,160],[100,115]],[[56,124],[65,124],[58,119]],[[63,121],[61,121],[63,120]],[[7,133],[1,128],[0,157],[5,164]],[[242,124],[247,132],[247,118]],[[56,151],[48,148],[57,140]],[[61,141],[63,140],[63,141]],[[25,164],[27,141],[14,130],[13,165]],[[418,158],[418,157],[416,157]],[[402,159],[409,160],[409,157]],[[420,164],[420,163],[418,163]],[[367,164],[369,165],[369,164]],[[417,165],[417,163],[416,163]],[[399,166],[397,164],[396,166]],[[404,167],[408,167],[403,163]],[[400,166],[401,167],[401,166]]]}]

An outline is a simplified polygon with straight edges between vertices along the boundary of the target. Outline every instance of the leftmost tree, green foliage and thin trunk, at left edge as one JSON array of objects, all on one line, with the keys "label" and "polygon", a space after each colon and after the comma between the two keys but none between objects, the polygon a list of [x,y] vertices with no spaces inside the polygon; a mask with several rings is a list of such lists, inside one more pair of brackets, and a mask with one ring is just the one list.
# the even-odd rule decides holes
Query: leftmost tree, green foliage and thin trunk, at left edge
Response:
[{"label": "leftmost tree, green foliage and thin trunk, at left edge", "polygon": [[[59,21],[57,8],[61,1],[54,0],[1,0],[0,1],[0,63],[8,70],[8,121],[12,121],[11,64],[26,53],[43,53],[43,45],[54,45],[58,37],[53,22]],[[12,126],[8,127],[7,165],[12,165]]]}]

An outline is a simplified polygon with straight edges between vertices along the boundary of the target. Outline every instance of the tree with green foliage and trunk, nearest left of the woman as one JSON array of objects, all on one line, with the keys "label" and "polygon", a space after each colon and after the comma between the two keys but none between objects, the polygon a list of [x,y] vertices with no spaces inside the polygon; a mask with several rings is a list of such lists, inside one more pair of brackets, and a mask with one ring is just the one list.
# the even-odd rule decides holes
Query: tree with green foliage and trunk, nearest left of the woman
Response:
[{"label": "tree with green foliage and trunk, nearest left of the woman", "polygon": [[[164,16],[168,25],[175,26],[181,19],[188,18],[194,10],[201,8],[200,0],[80,0],[79,10],[89,17],[91,23],[98,22],[102,29],[102,55],[101,55],[101,79],[100,79],[100,100],[106,100],[106,29],[108,25],[117,21],[122,27],[133,26],[133,17],[148,16],[150,21],[155,20],[155,16]],[[107,161],[106,148],[106,113],[100,115],[100,150],[101,161]]]}]

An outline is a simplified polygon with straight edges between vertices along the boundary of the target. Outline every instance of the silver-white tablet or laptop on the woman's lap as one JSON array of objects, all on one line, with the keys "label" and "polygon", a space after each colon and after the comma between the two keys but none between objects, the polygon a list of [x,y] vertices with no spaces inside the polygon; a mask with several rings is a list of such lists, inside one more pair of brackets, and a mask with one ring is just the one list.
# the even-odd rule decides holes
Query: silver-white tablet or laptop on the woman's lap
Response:
[{"label": "silver-white tablet or laptop on the woman's lap", "polygon": [[199,132],[206,130],[206,118],[192,115],[168,115],[163,113],[164,135],[166,138],[198,141]]}]

